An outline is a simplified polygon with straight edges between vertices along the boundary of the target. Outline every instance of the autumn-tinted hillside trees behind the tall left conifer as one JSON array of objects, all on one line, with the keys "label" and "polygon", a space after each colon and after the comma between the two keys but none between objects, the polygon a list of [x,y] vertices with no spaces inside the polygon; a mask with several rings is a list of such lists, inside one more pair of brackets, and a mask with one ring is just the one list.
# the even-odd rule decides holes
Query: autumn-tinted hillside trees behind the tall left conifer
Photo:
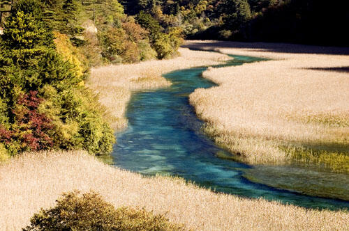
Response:
[{"label": "autumn-tinted hillside trees behind the tall left conifer", "polygon": [[[18,0],[0,0],[0,27]],[[177,54],[180,29],[163,30],[151,15],[129,17],[117,0],[41,0],[43,20],[68,35],[91,65],[135,63]],[[137,19],[137,20],[136,20]],[[145,22],[148,20],[149,22]]]}]

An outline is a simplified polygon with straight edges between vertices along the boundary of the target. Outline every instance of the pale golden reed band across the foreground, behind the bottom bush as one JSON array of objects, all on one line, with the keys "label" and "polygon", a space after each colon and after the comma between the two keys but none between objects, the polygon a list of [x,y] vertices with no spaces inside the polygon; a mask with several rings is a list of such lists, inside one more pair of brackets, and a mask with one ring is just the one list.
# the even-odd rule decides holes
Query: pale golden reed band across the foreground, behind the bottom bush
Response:
[{"label": "pale golden reed band across the foreground, behind the bottom bush", "polygon": [[0,230],[20,230],[62,192],[101,193],[115,207],[167,213],[193,230],[348,230],[349,213],[303,209],[199,189],[170,177],[142,177],[86,152],[27,153],[0,164]]}]

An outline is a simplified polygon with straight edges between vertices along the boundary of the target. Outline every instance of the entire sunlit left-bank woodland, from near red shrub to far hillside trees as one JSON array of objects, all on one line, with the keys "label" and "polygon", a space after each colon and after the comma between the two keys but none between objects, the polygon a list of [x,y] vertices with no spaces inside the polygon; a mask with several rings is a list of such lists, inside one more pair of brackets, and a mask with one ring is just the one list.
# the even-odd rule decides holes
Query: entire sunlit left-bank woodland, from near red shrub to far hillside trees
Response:
[{"label": "entire sunlit left-bank woodland, from near red shrub to far hillside trees", "polygon": [[[177,54],[181,30],[116,0],[1,1],[0,159],[38,150],[107,154],[114,135],[89,67]],[[139,23],[138,23],[139,22]]]}]

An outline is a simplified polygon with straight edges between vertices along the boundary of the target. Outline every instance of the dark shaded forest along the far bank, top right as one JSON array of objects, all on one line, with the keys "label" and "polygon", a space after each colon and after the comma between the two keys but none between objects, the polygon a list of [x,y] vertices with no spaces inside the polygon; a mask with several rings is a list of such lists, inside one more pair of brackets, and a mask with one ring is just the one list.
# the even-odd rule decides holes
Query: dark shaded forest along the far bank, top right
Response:
[{"label": "dark shaded forest along the far bank, top right", "polygon": [[343,0],[124,0],[129,15],[150,13],[188,39],[295,42],[348,46]]}]

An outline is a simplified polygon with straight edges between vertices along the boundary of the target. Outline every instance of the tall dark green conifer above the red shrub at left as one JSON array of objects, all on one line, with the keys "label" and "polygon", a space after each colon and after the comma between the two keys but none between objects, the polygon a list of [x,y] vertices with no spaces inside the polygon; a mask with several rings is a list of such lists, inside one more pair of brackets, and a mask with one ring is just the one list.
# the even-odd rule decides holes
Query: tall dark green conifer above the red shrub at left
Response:
[{"label": "tall dark green conifer above the red shrub at left", "polygon": [[16,97],[16,89],[39,90],[45,84],[64,88],[77,82],[73,66],[63,61],[54,46],[54,36],[43,21],[40,3],[20,1],[8,17],[0,50],[1,97]]}]

